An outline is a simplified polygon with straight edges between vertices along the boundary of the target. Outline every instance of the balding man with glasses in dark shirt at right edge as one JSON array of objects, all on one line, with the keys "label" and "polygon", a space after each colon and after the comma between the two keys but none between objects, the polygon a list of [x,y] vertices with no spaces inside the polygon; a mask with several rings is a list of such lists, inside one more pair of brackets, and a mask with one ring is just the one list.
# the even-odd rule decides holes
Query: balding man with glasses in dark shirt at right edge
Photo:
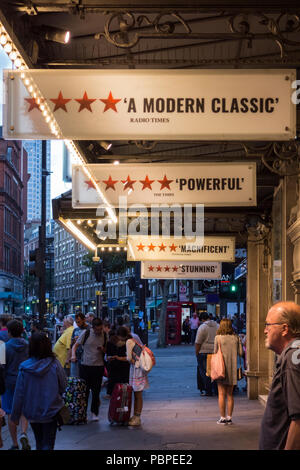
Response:
[{"label": "balding man with glasses in dark shirt at right edge", "polygon": [[261,450],[300,450],[300,306],[273,305],[265,323],[265,345],[278,357],[265,413]]}]

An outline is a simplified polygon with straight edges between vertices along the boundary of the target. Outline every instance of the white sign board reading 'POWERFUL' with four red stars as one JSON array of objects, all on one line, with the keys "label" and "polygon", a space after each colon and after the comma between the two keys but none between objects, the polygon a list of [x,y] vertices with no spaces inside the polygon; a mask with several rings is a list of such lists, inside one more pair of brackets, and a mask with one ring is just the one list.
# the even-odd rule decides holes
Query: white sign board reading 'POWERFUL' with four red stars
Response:
[{"label": "white sign board reading 'POWERFUL' with four red stars", "polygon": [[[117,159],[117,157],[116,157]],[[82,166],[73,166],[73,208],[97,208],[103,203],[127,204],[204,204],[205,206],[256,205],[255,163],[151,163],[87,165],[98,188]]]}]

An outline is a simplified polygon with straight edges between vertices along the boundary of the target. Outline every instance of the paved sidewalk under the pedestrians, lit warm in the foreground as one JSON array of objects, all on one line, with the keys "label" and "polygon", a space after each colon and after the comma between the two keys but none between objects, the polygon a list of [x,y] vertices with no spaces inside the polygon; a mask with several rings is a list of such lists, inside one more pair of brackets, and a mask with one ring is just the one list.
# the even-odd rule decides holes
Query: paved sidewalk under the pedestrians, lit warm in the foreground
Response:
[{"label": "paved sidewalk under the pedestrians, lit warm in the foreground", "polygon": [[[258,400],[248,400],[239,383],[235,394],[232,426],[217,424],[217,397],[200,396],[196,383],[194,346],[156,348],[156,334],[149,333],[149,347],[156,366],[149,374],[150,388],[144,391],[142,426],[110,426],[109,401],[101,391],[99,422],[64,426],[58,431],[56,450],[256,450],[264,412]],[[34,437],[29,426],[32,449]],[[8,427],[2,428],[4,446],[11,446]]]}]

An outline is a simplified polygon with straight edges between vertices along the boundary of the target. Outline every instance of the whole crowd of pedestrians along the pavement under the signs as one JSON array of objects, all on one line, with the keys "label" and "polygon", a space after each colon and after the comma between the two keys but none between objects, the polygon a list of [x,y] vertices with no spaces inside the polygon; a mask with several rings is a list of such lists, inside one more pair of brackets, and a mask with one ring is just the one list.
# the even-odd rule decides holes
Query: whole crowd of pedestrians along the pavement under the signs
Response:
[{"label": "whole crowd of pedestrians along the pavement under the signs", "polygon": [[[193,315],[194,324],[196,316]],[[206,396],[217,395],[221,425],[233,424],[234,388],[237,385],[238,360],[246,362],[245,335],[238,335],[229,318],[220,323],[203,312],[198,318],[194,347],[197,357],[198,388]],[[187,324],[189,319],[186,319]],[[190,323],[189,323],[190,325]],[[194,328],[195,329],[195,328]],[[192,330],[192,328],[191,328]],[[133,415],[130,426],[141,425],[143,391],[149,387],[148,374],[137,366],[136,348],[140,338],[119,318],[115,325],[82,313],[67,316],[64,330],[54,347],[47,335],[32,331],[29,342],[23,337],[22,322],[0,316],[0,342],[5,344],[5,391],[0,406],[1,426],[7,420],[12,440],[11,450],[20,444],[30,450],[27,437],[30,423],[36,449],[54,449],[57,415],[64,405],[70,372],[86,384],[86,407],[91,392],[91,419],[99,419],[100,390],[107,375],[107,398],[116,384],[130,384],[133,389]],[[300,307],[294,302],[279,302],[268,312],[265,345],[277,354],[275,373],[261,425],[259,448],[262,450],[300,450]],[[193,338],[191,337],[191,340]],[[221,351],[223,375],[211,379],[212,356]],[[67,365],[71,366],[67,367]],[[72,368],[75,366],[76,368]]]}]

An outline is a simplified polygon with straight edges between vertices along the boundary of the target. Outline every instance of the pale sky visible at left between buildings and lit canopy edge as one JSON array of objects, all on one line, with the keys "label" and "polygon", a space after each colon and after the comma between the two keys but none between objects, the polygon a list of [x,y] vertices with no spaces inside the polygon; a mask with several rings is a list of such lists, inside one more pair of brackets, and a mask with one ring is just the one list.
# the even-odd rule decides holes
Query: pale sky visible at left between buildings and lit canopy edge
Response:
[{"label": "pale sky visible at left between buildings and lit canopy edge", "polygon": [[[11,68],[11,61],[0,46],[0,125],[2,126],[3,69]],[[51,199],[71,189],[71,183],[63,181],[63,141],[51,140]]]}]

